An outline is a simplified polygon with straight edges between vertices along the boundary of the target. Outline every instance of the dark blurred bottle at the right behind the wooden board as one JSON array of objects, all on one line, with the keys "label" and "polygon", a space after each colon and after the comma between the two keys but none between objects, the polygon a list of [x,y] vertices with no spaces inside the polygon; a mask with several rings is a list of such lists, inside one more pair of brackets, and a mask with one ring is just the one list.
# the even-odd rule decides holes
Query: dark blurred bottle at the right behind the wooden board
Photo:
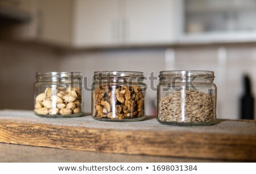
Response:
[{"label": "dark blurred bottle at the right behind the wooden board", "polygon": [[240,99],[240,118],[254,119],[254,97],[249,76],[243,76],[243,94]]}]

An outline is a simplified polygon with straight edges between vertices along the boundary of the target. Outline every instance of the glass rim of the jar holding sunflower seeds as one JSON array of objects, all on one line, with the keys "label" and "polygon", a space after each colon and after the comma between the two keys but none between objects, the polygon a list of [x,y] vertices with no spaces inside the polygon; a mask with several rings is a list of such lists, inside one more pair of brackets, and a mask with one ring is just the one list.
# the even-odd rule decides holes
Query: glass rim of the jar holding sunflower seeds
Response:
[{"label": "glass rim of the jar holding sunflower seeds", "polygon": [[206,77],[214,77],[213,71],[201,71],[201,70],[179,70],[179,71],[160,71],[159,77],[163,76],[184,76],[184,77],[192,77],[192,76],[206,76]]}]

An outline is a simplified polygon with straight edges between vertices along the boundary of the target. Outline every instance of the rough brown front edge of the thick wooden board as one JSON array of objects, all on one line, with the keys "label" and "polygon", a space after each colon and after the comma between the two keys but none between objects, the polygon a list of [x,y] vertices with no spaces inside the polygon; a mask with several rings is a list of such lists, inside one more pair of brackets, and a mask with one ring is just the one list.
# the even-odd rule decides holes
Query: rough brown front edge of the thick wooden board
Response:
[{"label": "rough brown front edge of the thick wooden board", "polygon": [[0,142],[69,150],[256,161],[256,136],[1,122]]}]

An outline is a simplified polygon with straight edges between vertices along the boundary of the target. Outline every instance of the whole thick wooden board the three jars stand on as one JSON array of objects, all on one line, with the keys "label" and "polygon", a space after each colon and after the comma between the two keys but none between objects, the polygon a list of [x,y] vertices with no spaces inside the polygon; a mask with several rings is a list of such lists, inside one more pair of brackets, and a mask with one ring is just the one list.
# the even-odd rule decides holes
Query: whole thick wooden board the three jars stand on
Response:
[{"label": "whole thick wooden board the three jars stand on", "polygon": [[69,150],[256,161],[256,121],[220,120],[212,126],[161,125],[154,117],[115,123],[40,118],[32,111],[0,111],[0,142]]}]

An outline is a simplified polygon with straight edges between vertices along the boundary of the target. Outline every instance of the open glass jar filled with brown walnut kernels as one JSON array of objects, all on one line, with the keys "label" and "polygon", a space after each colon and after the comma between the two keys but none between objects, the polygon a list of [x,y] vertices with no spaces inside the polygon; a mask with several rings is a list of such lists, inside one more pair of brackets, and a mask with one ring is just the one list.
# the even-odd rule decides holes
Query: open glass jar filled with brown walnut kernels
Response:
[{"label": "open glass jar filled with brown walnut kernels", "polygon": [[146,84],[142,72],[94,72],[92,117],[100,121],[141,121]]}]

